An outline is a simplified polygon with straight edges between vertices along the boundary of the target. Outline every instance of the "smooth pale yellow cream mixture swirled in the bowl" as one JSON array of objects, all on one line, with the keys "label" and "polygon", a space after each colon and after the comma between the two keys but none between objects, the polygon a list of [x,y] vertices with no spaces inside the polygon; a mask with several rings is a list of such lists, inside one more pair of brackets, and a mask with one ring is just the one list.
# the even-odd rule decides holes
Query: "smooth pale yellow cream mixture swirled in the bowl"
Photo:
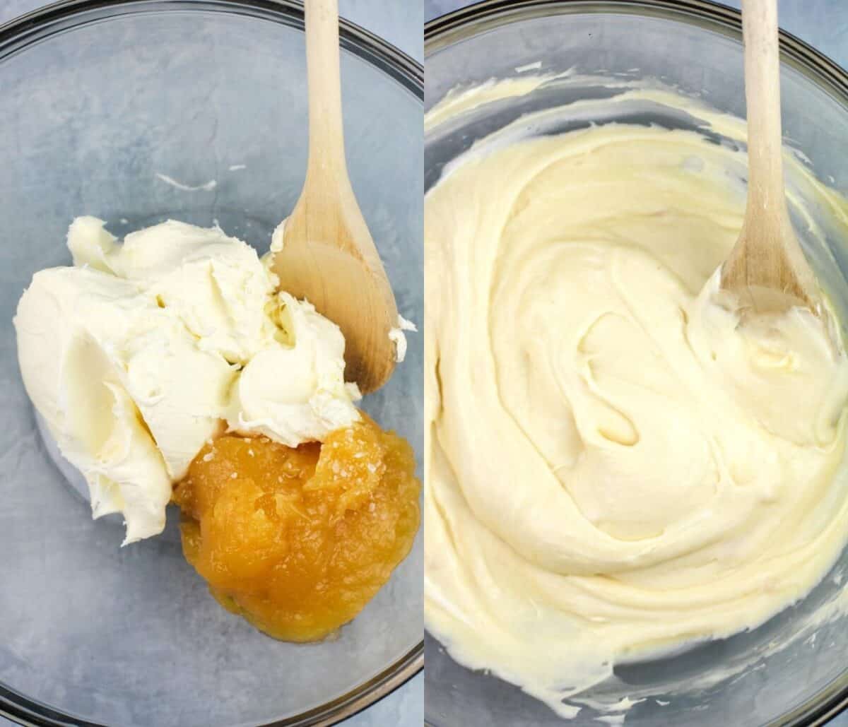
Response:
[{"label": "smooth pale yellow cream mixture swirled in the bowl", "polygon": [[427,627],[563,716],[622,660],[762,623],[848,536],[837,327],[718,291],[740,158],[594,126],[427,194]]}]

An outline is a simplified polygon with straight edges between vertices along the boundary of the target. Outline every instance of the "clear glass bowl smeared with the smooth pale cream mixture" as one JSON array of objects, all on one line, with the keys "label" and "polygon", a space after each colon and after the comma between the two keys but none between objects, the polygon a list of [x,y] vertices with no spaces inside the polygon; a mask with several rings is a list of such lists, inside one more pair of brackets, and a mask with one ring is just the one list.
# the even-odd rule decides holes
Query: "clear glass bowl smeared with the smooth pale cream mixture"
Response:
[{"label": "clear glass bowl smeared with the smooth pale cream mixture", "polygon": [[[848,76],[791,36],[784,34],[781,45],[785,138],[806,154],[819,179],[845,193]],[[516,69],[540,62],[531,73],[573,69],[575,75],[659,80],[714,108],[745,116],[739,13],[697,0],[492,0],[428,24],[425,55],[427,109],[456,87],[523,76],[526,73]],[[428,128],[425,188],[435,184],[444,165],[475,141],[523,115],[613,93],[590,80],[553,82]],[[627,119],[616,118],[615,112],[601,116],[604,106],[598,103],[599,115],[580,119],[579,124],[628,120],[693,127],[692,119],[676,117],[661,106],[644,108],[643,114]],[[533,128],[535,133],[547,134],[572,126],[557,127],[552,122]],[[791,174],[788,182],[795,182]],[[814,211],[814,216],[819,213]],[[817,221],[826,233],[833,229],[828,220]],[[808,252],[845,320],[848,247],[845,240],[832,235],[827,235],[826,242],[829,253],[812,244]],[[628,711],[624,724],[631,727],[823,724],[848,703],[848,617],[823,619],[821,624],[816,617],[834,608],[846,569],[848,553],[843,553],[811,594],[760,628],[702,644],[676,657],[621,665],[614,679],[583,696],[606,704],[623,696],[648,697]],[[425,643],[426,719],[432,727],[563,724],[550,708],[517,687],[455,663],[432,636],[427,635]],[[567,648],[567,644],[551,644],[551,648]],[[584,706],[571,724],[600,724],[595,719],[610,714]],[[616,713],[612,716],[611,724],[616,724]]]}]

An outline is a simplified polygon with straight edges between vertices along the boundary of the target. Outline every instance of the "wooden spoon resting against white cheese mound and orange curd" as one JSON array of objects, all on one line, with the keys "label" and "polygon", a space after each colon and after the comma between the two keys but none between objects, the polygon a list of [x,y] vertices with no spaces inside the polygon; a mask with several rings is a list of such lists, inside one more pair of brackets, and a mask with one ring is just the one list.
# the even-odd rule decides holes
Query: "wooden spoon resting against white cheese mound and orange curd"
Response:
[{"label": "wooden spoon resting against white cheese mound and orange curd", "polygon": [[274,272],[282,290],[307,298],[342,329],[345,378],[367,393],[392,375],[395,348],[388,333],[398,309],[344,160],[338,0],[306,0],[305,12],[309,162]]}]

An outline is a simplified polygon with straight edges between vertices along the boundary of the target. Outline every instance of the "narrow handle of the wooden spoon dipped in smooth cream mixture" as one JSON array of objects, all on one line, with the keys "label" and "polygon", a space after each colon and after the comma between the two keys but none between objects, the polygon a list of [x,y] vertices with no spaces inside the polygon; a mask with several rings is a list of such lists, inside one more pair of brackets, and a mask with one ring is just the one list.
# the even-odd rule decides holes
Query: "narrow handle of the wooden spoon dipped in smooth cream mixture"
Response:
[{"label": "narrow handle of the wooden spoon dipped in smooth cream mixture", "polygon": [[[777,0],[742,0],[745,102],[748,106],[748,207],[757,224],[782,222],[786,208],[781,158]],[[752,133],[753,132],[753,133]],[[782,214],[775,214],[775,210]],[[778,230],[771,230],[777,234]]]}]

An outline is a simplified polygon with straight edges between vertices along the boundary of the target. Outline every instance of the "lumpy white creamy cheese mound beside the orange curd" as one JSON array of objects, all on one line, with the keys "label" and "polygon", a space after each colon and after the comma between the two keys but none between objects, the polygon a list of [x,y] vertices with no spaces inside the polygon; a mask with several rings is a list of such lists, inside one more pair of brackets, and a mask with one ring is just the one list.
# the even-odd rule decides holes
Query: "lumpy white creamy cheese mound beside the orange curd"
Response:
[{"label": "lumpy white creamy cheese mound beside the orange curd", "polygon": [[225,429],[289,447],[359,419],[344,338],[243,241],[168,221],[118,244],[93,217],[74,267],[41,270],[14,319],[26,391],[125,544],[165,527],[172,483]]}]

